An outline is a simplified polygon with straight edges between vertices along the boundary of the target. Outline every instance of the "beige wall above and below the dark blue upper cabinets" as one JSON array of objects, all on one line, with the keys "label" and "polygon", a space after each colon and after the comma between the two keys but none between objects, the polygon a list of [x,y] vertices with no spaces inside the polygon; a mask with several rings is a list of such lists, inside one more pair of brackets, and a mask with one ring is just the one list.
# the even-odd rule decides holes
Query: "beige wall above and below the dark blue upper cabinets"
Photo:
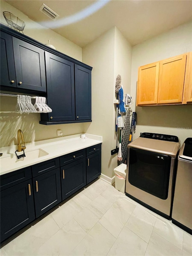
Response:
[{"label": "beige wall above and below the dark blue upper cabinets", "polygon": [[[82,61],[82,48],[78,45],[58,35],[51,29],[43,28],[38,23],[30,20],[25,14],[4,1],[0,2],[0,7],[0,21],[2,23],[6,23],[2,12],[9,11],[26,23],[26,27],[24,29],[25,35],[44,44],[48,43],[48,39],[50,39],[51,44],[55,45],[58,51],[65,53],[74,59]],[[13,113],[15,106],[16,98],[1,96],[1,147],[17,144],[15,138],[19,128],[22,129],[26,142],[55,138],[57,137],[57,129],[61,129],[63,131],[63,136],[84,132],[84,125],[82,123],[65,125],[40,125],[40,114],[16,114]]]}]

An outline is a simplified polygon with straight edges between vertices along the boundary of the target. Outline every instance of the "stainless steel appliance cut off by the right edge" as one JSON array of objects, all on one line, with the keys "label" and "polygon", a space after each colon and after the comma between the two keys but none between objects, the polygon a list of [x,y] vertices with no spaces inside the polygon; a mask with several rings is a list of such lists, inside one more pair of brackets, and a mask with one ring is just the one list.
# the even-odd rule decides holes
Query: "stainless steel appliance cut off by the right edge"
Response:
[{"label": "stainless steel appliance cut off by the right edge", "polygon": [[179,151],[172,222],[192,234],[192,138]]}]

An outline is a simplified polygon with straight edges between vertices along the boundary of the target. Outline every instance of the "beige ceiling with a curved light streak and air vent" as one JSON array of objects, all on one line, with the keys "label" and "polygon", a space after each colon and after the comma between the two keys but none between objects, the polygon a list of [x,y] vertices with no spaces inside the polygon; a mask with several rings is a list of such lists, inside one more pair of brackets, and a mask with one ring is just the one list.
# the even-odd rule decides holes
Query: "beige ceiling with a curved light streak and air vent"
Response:
[{"label": "beige ceiling with a curved light streak and air vent", "polygon": [[[7,0],[30,19],[50,27],[80,47],[116,26],[131,45],[192,20],[188,0]],[[47,5],[60,17],[52,21],[39,11]],[[104,5],[94,13],[89,9]],[[52,24],[49,24],[52,23]],[[64,25],[63,25],[64,24]]]}]

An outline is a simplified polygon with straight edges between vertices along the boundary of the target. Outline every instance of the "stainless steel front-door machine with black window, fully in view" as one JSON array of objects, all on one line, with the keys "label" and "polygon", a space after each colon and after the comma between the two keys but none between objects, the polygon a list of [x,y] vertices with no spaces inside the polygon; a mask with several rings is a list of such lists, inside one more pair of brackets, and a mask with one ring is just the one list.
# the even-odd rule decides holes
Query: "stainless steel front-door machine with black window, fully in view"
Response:
[{"label": "stainless steel front-door machine with black window, fully in view", "polygon": [[177,136],[142,133],[128,144],[125,194],[170,219]]}]

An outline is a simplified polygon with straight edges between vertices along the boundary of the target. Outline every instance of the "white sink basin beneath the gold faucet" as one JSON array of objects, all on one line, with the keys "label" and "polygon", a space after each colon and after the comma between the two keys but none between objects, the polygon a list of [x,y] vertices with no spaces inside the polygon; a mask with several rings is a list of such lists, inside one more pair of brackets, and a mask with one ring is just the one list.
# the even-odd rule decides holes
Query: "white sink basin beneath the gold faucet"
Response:
[{"label": "white sink basin beneath the gold faucet", "polygon": [[[18,152],[17,152],[18,154]],[[6,156],[1,156],[0,157],[0,166],[1,168],[7,167],[7,166],[11,166],[12,164],[19,164],[19,163],[23,163],[23,162],[28,162],[28,161],[32,161],[35,160],[37,158],[43,157],[45,155],[49,155],[49,153],[47,153],[46,151],[44,151],[43,149],[31,149],[31,150],[25,150],[25,155],[26,157],[24,158],[20,158],[17,159],[15,153],[11,153],[9,155]]]}]

